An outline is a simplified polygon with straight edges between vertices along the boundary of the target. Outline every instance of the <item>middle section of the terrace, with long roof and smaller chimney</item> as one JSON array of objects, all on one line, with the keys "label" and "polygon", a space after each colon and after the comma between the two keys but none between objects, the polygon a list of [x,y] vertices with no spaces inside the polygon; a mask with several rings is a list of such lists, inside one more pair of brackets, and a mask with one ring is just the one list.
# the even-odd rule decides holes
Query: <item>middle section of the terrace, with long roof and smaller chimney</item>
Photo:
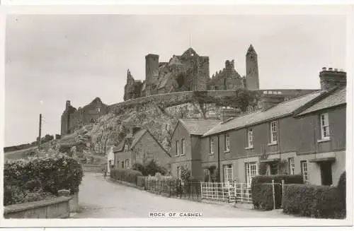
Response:
[{"label": "middle section of the terrace, with long roof and smaller chimney", "polygon": [[292,114],[323,93],[320,90],[285,102],[281,95],[263,94],[262,109],[207,131],[200,146],[205,178],[216,169],[222,182],[236,180],[250,185],[259,172],[260,162],[265,162],[268,174],[278,174],[280,159],[296,156],[296,124]]}]

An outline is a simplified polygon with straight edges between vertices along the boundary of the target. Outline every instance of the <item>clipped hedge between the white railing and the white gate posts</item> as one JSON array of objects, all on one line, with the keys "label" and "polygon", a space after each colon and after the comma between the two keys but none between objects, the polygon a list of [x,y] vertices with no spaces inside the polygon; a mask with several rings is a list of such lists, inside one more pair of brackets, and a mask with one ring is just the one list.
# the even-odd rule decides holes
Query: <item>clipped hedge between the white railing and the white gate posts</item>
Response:
[{"label": "clipped hedge between the white railing and the white gate posts", "polygon": [[[254,208],[263,210],[272,210],[273,204],[273,188],[272,180],[275,183],[280,183],[284,180],[285,184],[302,184],[302,176],[297,175],[258,175],[252,178],[251,191],[252,203]],[[282,187],[280,184],[275,184],[275,208],[280,208],[282,205]]]}]

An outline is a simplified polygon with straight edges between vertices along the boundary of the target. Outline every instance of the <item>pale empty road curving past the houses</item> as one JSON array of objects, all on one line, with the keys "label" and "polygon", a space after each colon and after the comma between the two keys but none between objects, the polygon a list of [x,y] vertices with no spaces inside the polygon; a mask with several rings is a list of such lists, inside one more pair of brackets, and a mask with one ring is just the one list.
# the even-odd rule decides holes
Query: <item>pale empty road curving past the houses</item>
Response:
[{"label": "pale empty road curving past the houses", "polygon": [[167,198],[85,172],[79,191],[81,211],[73,218],[148,218],[156,213],[200,213],[203,218],[292,218],[279,211],[235,208],[229,203],[201,203]]}]

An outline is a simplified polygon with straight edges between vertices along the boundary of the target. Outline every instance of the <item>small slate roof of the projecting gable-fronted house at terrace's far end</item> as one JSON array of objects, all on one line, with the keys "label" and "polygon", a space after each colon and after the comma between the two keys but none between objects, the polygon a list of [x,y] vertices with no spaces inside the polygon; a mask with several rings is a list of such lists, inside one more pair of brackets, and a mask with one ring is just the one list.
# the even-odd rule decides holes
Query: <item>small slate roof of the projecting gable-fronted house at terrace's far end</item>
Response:
[{"label": "small slate roof of the projecting gable-fronted house at terrace's far end", "polygon": [[178,119],[178,121],[187,129],[190,135],[198,136],[202,136],[202,134],[205,134],[205,132],[221,122],[210,119]]}]

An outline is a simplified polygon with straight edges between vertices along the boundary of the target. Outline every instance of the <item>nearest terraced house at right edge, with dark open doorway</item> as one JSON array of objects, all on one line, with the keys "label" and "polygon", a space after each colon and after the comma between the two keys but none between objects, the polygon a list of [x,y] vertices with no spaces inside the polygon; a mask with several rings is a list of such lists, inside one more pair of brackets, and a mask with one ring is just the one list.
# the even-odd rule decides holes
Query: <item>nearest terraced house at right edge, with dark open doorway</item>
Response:
[{"label": "nearest terraced house at right edge, with dark open doorway", "polygon": [[295,115],[299,170],[311,184],[337,184],[346,170],[346,88],[339,88]]}]

